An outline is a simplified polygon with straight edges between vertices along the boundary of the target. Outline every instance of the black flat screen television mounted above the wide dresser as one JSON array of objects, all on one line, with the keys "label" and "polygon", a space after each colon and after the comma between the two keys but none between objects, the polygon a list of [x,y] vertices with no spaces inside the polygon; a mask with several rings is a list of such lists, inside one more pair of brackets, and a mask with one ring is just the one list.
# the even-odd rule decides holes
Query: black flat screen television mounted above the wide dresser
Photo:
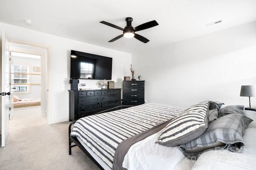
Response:
[{"label": "black flat screen television mounted above the wide dresser", "polygon": [[112,58],[71,50],[70,78],[111,80]]}]

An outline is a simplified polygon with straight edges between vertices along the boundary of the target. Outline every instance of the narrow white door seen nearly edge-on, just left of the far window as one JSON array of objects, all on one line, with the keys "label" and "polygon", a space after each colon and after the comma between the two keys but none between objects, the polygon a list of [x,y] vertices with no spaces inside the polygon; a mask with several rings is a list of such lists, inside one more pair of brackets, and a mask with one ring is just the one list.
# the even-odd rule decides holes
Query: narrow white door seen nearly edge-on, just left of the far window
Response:
[{"label": "narrow white door seen nearly edge-on, just left of the far window", "polygon": [[13,113],[14,113],[14,111],[13,111],[13,108],[14,108],[14,103],[13,103],[13,92],[14,92],[14,66],[13,66],[13,56],[12,56],[12,53],[10,52],[9,53],[10,55],[9,55],[9,57],[10,57],[10,62],[9,62],[9,72],[10,72],[10,74],[9,74],[9,81],[10,81],[10,119],[12,119],[12,116],[13,116]]}]

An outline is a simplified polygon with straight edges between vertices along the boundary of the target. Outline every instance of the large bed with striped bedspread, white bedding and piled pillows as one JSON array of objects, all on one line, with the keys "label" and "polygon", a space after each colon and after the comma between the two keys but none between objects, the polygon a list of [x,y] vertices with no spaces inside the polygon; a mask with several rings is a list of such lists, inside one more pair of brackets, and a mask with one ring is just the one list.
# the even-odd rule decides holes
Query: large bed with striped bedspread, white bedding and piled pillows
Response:
[{"label": "large bed with striped bedspread, white bedding and piled pillows", "polygon": [[69,154],[78,146],[105,170],[254,169],[256,112],[222,104],[142,104],[83,117],[70,123]]}]

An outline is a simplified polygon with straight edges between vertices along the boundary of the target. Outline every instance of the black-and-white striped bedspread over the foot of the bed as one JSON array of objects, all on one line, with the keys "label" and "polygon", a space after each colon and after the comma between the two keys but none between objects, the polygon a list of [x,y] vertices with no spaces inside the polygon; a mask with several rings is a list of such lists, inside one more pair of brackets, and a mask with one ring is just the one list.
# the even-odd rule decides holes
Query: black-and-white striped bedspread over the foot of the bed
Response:
[{"label": "black-and-white striped bedspread over the foot of the bed", "polygon": [[112,168],[116,148],[122,141],[168,121],[184,110],[162,104],[142,104],[91,115],[76,121],[70,135],[80,137]]}]

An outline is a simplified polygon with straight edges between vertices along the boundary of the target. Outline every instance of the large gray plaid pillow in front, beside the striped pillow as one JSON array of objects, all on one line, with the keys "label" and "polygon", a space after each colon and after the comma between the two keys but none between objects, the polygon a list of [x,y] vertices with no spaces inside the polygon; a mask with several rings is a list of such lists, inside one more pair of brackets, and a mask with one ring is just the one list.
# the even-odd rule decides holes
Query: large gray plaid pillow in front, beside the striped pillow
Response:
[{"label": "large gray plaid pillow in front, beside the striped pillow", "polygon": [[[253,120],[241,114],[229,114],[209,123],[208,129],[198,138],[182,144],[179,149],[193,160],[207,150],[227,149],[241,152],[244,147],[242,135]],[[198,152],[196,152],[198,149]]]}]

